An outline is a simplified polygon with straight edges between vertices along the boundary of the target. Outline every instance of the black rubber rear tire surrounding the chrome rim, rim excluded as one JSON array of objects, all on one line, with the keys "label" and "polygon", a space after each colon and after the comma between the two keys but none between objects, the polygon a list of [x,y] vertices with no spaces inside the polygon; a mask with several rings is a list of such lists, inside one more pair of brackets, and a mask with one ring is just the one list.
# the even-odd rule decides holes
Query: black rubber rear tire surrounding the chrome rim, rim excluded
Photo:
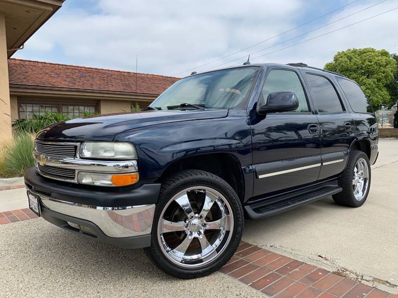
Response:
[{"label": "black rubber rear tire surrounding the chrome rim, rim excluded", "polygon": [[[367,189],[364,192],[362,199],[357,200],[354,196],[353,175],[354,175],[355,165],[357,164],[358,160],[361,158],[366,161],[369,176],[367,182]],[[368,155],[366,155],[366,153],[364,153],[363,151],[357,151],[357,150],[350,151],[348,156],[347,166],[339,178],[339,186],[343,188],[343,191],[332,196],[334,202],[336,202],[339,205],[347,207],[361,207],[365,203],[368,197],[371,177],[372,173],[371,173]]]}]

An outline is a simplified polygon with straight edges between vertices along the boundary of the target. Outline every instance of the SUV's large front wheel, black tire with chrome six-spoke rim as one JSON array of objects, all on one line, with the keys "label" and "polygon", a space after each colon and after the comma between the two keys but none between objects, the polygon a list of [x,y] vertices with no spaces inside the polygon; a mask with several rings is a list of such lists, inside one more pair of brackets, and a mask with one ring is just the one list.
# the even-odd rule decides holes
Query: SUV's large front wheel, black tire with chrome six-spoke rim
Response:
[{"label": "SUV's large front wheel, black tire with chrome six-spoke rim", "polygon": [[243,222],[239,198],[228,183],[209,172],[182,171],[162,184],[146,252],[170,275],[205,276],[235,253]]}]

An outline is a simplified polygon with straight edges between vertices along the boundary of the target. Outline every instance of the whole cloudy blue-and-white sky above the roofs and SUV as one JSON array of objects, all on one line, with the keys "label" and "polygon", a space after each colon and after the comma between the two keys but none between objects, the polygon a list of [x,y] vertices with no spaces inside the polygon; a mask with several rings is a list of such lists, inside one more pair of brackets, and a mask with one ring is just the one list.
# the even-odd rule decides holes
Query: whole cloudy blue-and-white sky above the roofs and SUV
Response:
[{"label": "whole cloudy blue-and-white sky above the roofs and SUV", "polygon": [[396,7],[398,0],[66,0],[13,58],[134,72],[138,55],[138,72],[177,76],[248,54],[252,63],[323,67],[347,48],[397,53],[398,9],[338,30]]}]

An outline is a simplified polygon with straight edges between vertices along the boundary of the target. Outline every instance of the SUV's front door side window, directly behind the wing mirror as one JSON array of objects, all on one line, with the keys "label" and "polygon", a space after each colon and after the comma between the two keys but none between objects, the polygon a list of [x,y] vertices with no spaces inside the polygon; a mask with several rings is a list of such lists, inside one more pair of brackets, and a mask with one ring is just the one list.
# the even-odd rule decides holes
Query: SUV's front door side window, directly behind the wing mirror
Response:
[{"label": "SUV's front door side window, directly behind the wing mirror", "polygon": [[298,98],[298,108],[292,112],[309,112],[301,81],[295,72],[288,70],[273,70],[268,74],[264,82],[263,98],[260,98],[260,104],[265,104],[270,93],[282,91],[294,92]]}]

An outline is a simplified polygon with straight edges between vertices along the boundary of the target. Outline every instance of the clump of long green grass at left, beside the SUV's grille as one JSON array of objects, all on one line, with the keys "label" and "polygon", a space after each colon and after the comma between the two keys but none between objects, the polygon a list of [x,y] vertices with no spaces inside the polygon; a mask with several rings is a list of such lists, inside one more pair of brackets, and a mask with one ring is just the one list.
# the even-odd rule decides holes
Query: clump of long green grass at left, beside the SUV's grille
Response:
[{"label": "clump of long green grass at left, beside the SUV's grille", "polygon": [[34,136],[21,133],[5,144],[0,155],[0,176],[19,177],[28,167],[34,166]]}]

